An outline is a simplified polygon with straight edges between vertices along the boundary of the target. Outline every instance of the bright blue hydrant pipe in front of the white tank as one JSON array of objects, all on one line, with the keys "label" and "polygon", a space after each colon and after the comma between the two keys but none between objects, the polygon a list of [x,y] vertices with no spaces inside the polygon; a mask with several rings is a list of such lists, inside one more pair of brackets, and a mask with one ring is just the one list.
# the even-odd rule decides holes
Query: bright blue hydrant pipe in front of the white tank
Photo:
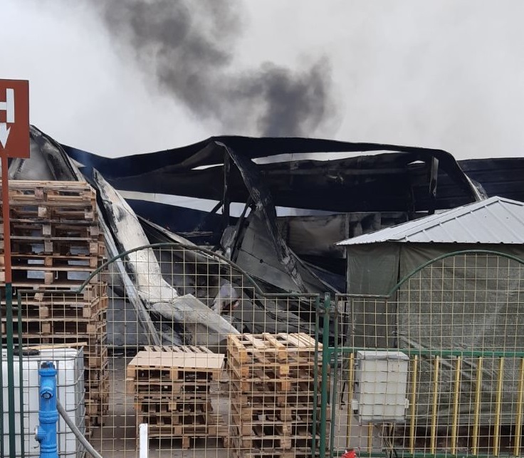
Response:
[{"label": "bright blue hydrant pipe in front of the white tank", "polygon": [[40,410],[38,410],[40,426],[36,428],[36,440],[40,442],[40,458],[58,458],[55,365],[50,361],[42,363],[38,375],[40,375]]}]

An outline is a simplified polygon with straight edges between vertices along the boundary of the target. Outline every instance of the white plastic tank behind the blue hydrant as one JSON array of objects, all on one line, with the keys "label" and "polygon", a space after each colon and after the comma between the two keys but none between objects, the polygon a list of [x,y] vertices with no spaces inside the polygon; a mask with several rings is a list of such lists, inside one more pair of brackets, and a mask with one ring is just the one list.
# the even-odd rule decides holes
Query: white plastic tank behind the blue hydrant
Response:
[{"label": "white plastic tank behind the blue hydrant", "polygon": [[[85,432],[84,361],[83,350],[55,348],[31,351],[23,356],[20,368],[18,352],[14,355],[15,411],[8,412],[7,353],[2,350],[2,392],[4,400],[4,454],[9,456],[9,415],[14,415],[16,431],[16,456],[21,457],[21,441],[24,441],[23,457],[38,457],[40,447],[35,439],[38,426],[38,368],[44,361],[53,361],[57,370],[57,395],[61,405],[81,432]],[[23,375],[23,439],[20,434],[20,370]],[[58,456],[81,458],[83,447],[66,422],[58,420]]]}]

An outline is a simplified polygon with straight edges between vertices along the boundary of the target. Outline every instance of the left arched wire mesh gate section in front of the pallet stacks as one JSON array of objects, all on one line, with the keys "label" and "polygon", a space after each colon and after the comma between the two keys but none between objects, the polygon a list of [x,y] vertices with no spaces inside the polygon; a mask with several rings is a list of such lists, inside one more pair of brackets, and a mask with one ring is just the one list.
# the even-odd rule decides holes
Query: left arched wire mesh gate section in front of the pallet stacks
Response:
[{"label": "left arched wire mesh gate section in front of the pallet stacks", "polygon": [[[167,283],[158,278],[154,261]],[[0,425],[2,456],[38,456],[32,434],[38,405],[28,395],[35,382],[28,380],[24,361],[29,351],[41,351],[42,355],[51,351],[46,358],[70,368],[61,346],[81,350],[75,356],[77,363],[80,360],[73,364],[76,369],[70,368],[73,378],[58,380],[58,385],[67,385],[76,393],[70,399],[63,397],[62,402],[78,424],[85,416],[85,434],[105,458],[136,456],[140,422],[149,423],[150,457],[255,457],[256,450],[266,457],[268,449],[282,458],[309,457],[325,447],[327,431],[320,430],[320,425],[325,427],[329,418],[320,407],[327,405],[328,387],[322,377],[327,379],[329,374],[325,368],[320,370],[322,360],[318,355],[322,355],[322,335],[329,336],[330,332],[328,328],[323,331],[323,325],[329,323],[323,297],[263,293],[257,282],[229,259],[184,244],[140,246],[109,261],[99,259],[94,271],[80,262],[63,271],[54,272],[53,278],[44,275],[43,288],[19,286],[15,291],[16,304],[11,310],[17,321],[15,345],[7,349],[15,360],[7,368],[14,380],[7,394],[15,415],[11,412],[1,417],[5,420]],[[142,291],[133,289],[130,271],[135,284],[150,285]],[[191,293],[198,297],[209,306],[209,317],[213,319],[216,314],[211,313],[211,308],[234,308],[233,313],[223,313],[226,324],[258,336],[251,342],[237,342],[241,345],[236,348],[239,353],[228,353],[226,358],[229,370],[216,370],[216,355],[206,349],[202,334],[198,343],[189,342],[192,345],[180,341],[181,335],[203,323],[186,326],[166,318],[164,305],[172,299],[166,297],[169,284],[177,284],[178,296]],[[186,311],[182,316],[184,313],[190,316]],[[228,318],[231,315],[236,318]],[[222,321],[219,324],[226,326]],[[112,342],[107,340],[108,333]],[[261,363],[254,369],[241,366],[242,356],[260,350],[257,345],[261,345],[261,335],[265,336],[262,340],[266,339],[264,345],[276,345],[277,356],[258,360]],[[204,364],[197,372],[194,368],[184,372],[184,368],[165,370],[163,363],[154,367],[156,359],[153,361],[151,355],[160,360],[166,354],[174,358],[172,345],[181,343],[186,344],[184,351],[196,354],[195,360],[208,360],[209,368]],[[279,362],[285,345],[305,363],[293,366],[292,358],[287,356]],[[229,340],[228,348],[232,348]],[[144,350],[149,352],[150,360],[140,360],[138,352],[143,355]],[[226,348],[221,350],[225,353]],[[253,382],[251,379],[256,377],[251,371],[257,373],[256,377],[268,378],[274,392],[255,392],[260,380]],[[84,387],[80,386],[79,373]],[[251,386],[253,392],[250,388],[246,395],[246,387]],[[69,388],[63,390],[65,396]],[[84,390],[85,414],[80,407],[83,397],[78,396]],[[59,397],[60,393],[59,389]],[[292,407],[286,407],[286,402]],[[256,420],[255,415],[261,420]],[[83,451],[66,434],[65,426],[59,424],[59,430],[62,456],[82,457]],[[21,440],[21,432],[25,441]]]}]

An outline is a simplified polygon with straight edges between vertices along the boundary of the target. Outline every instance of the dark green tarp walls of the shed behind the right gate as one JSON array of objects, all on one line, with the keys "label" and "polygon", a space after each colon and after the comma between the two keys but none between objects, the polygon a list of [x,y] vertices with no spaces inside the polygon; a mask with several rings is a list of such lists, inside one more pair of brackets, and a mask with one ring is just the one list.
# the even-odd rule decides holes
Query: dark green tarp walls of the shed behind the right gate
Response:
[{"label": "dark green tarp walls of the shed behind the right gate", "polygon": [[[405,276],[437,256],[466,249],[501,251],[524,259],[524,246],[384,243],[350,246],[352,293],[386,294]],[[353,278],[352,278],[353,277]],[[354,343],[384,348],[524,351],[524,267],[499,256],[451,256],[422,269],[389,301],[355,301]],[[360,287],[358,286],[360,285]],[[374,310],[370,308],[374,305]],[[493,424],[498,358],[484,358],[481,423]],[[417,412],[431,416],[433,362],[420,360]],[[464,358],[461,423],[473,420],[478,359]],[[441,358],[439,424],[451,424],[455,360]],[[501,422],[510,425],[517,406],[520,359],[505,358]]]}]

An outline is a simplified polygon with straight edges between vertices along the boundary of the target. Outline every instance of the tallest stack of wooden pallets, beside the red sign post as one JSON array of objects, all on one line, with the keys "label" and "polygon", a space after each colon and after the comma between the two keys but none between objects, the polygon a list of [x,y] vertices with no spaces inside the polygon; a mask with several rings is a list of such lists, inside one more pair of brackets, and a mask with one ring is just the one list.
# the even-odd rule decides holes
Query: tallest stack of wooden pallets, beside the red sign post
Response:
[{"label": "tallest stack of wooden pallets, beside the red sign post", "polygon": [[[103,264],[96,194],[85,182],[11,181],[11,264],[14,316],[20,312],[23,345],[84,348],[87,430],[100,425],[108,409],[107,286],[89,279]],[[2,200],[3,202],[3,200]],[[1,214],[1,212],[0,212]],[[0,287],[5,285],[4,230],[0,231]],[[18,295],[21,290],[21,308]],[[30,290],[27,292],[24,290]],[[64,292],[69,291],[69,292]],[[2,298],[4,299],[2,293]],[[6,304],[1,303],[2,338]]]}]

